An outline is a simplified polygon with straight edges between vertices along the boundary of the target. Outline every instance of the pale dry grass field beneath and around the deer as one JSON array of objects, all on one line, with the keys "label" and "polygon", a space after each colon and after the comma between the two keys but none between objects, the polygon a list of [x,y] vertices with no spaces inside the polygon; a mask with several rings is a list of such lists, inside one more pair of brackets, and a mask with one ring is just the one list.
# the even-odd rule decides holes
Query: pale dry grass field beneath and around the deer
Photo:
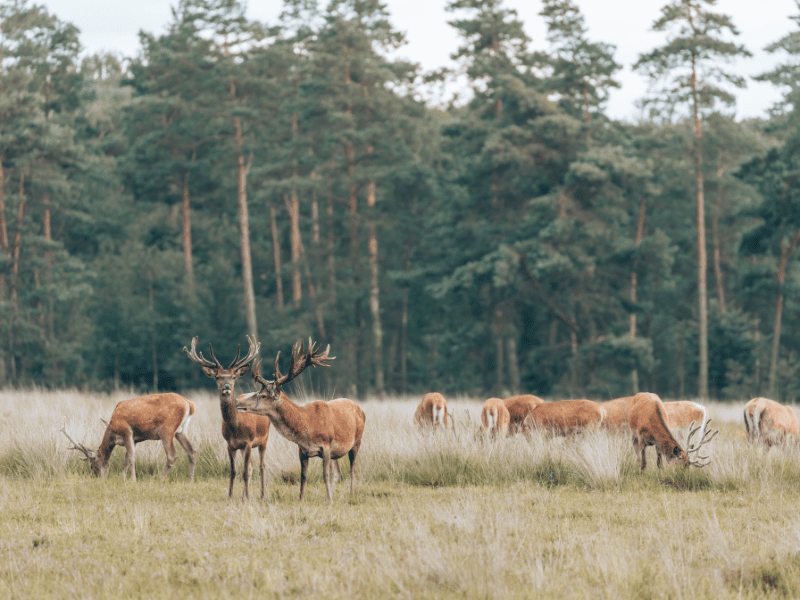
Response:
[{"label": "pale dry grass field beneath and around the deer", "polygon": [[159,479],[158,442],[135,483],[121,448],[92,477],[58,430],[96,448],[125,397],[0,393],[0,598],[800,597],[800,448],[751,447],[744,401],[708,405],[708,467],[659,471],[650,449],[645,472],[628,436],[481,443],[480,402],[450,401],[458,427],[436,436],[416,400],[367,402],[355,496],[340,483],[329,505],[318,459],[298,502],[276,431],[267,498],[257,471],[250,502],[240,478],[228,498],[210,395],[191,397],[194,483],[180,448]]}]

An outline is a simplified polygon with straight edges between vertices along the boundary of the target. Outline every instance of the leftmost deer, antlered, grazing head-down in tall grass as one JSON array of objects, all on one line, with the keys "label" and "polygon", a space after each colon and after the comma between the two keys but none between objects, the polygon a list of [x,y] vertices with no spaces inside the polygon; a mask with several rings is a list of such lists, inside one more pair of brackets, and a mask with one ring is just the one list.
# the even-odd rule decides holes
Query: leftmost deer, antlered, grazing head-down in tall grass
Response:
[{"label": "leftmost deer, antlered, grazing head-down in tall grass", "polygon": [[[108,475],[108,463],[115,446],[125,446],[125,466],[122,476],[130,471],[131,479],[136,481],[136,444],[146,440],[161,440],[167,453],[167,463],[161,477],[165,477],[178,457],[175,452],[175,440],[178,440],[189,457],[189,481],[194,481],[195,451],[186,438],[189,420],[194,414],[194,402],[178,394],[150,394],[117,403],[111,414],[111,421],[106,423],[106,432],[97,451],[86,448],[72,439],[66,430],[66,423],[61,432],[67,436],[72,446],[70,450],[83,452],[81,460],[89,461],[92,473],[98,477]],[[104,421],[105,422],[105,421]]]}]

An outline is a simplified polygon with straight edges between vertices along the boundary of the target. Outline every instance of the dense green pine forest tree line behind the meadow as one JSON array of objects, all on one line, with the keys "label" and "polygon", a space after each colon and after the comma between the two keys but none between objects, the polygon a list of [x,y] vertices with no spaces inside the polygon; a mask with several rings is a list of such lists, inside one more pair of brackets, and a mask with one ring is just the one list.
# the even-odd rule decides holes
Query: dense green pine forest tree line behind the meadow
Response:
[{"label": "dense green pine forest tree line behind the meadow", "polygon": [[331,344],[312,385],[356,399],[793,401],[800,29],[736,120],[735,23],[671,0],[630,123],[573,0],[546,51],[502,0],[447,10],[431,73],[378,0],[180,0],[134,57],[0,3],[0,386],[198,387],[192,337],[225,363],[249,334],[262,373]]}]

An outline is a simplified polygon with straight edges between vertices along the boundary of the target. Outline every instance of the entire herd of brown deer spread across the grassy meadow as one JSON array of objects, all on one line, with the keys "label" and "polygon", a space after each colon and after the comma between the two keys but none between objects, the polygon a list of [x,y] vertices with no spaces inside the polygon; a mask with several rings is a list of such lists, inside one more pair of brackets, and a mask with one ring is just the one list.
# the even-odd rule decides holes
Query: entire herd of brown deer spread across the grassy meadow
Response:
[{"label": "entire herd of brown deer spread across the grassy meadow", "polygon": [[[259,452],[259,472],[261,475],[261,498],[264,498],[265,454],[270,425],[286,439],[297,444],[300,454],[300,500],[305,492],[308,473],[308,459],[322,458],[323,480],[327,499],[331,501],[331,480],[341,476],[338,459],[348,455],[350,459],[350,494],[353,494],[355,459],[361,446],[364,432],[364,411],[352,400],[338,398],[330,402],[314,401],[305,406],[292,402],[281,387],[293,380],[307,367],[327,367],[335,357],[328,356],[330,346],[321,351],[318,344],[309,339],[308,351],[298,342],[292,348],[289,370],[284,375],[279,369],[280,352],[275,357],[273,379],[267,380],[259,374],[260,361],[252,368],[252,376],[261,387],[258,391],[236,396],[233,392],[236,380],[247,373],[251,361],[258,354],[261,344],[247,337],[249,351],[236,358],[226,368],[214,356],[209,344],[212,360],[196,350],[197,338],[192,340],[191,349],[183,348],[186,356],[200,365],[203,372],[212,378],[219,390],[222,411],[222,437],[225,439],[230,459],[230,481],[228,495],[233,496],[233,482],[236,478],[236,453],[244,457],[242,479],[244,490],[242,500],[249,498],[250,458],[253,448]],[[161,476],[167,475],[177,459],[175,440],[189,457],[189,480],[194,480],[195,450],[186,437],[189,421],[195,413],[191,400],[174,393],[151,394],[117,404],[106,423],[106,431],[100,447],[90,450],[76,442],[61,428],[72,443],[71,450],[83,453],[82,460],[89,462],[92,472],[105,477],[111,453],[115,446],[125,446],[123,476],[130,472],[136,480],[135,447],[146,440],[160,440],[167,455],[167,462]],[[703,467],[708,457],[700,456],[700,448],[708,444],[718,431],[708,429],[705,407],[695,402],[662,402],[651,393],[641,392],[635,396],[617,398],[608,402],[591,400],[561,400],[545,402],[530,394],[510,398],[489,398],[481,411],[483,432],[491,437],[506,436],[513,432],[527,432],[531,428],[541,428],[550,435],[570,435],[591,427],[606,427],[612,430],[628,428],[633,435],[633,445],[640,457],[642,469],[646,467],[645,450],[655,446],[657,464],[662,457],[667,463]],[[422,427],[447,428],[452,419],[447,410],[447,402],[439,393],[426,394],[414,415]],[[766,398],[754,398],[744,410],[747,437],[751,441],[762,440],[768,445],[777,443],[786,436],[798,434],[797,416],[788,406],[783,406]],[[697,427],[695,423],[699,423]],[[689,427],[685,450],[672,435],[670,428]],[[692,440],[700,431],[697,443]],[[335,471],[335,474],[334,474]]]}]

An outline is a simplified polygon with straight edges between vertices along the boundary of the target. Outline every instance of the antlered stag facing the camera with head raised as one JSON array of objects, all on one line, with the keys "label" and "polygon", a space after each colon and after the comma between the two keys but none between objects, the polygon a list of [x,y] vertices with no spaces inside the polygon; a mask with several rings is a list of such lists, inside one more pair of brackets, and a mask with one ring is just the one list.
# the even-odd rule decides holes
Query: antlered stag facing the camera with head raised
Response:
[{"label": "antlered stag facing the camera with head raised", "polygon": [[[233,481],[236,478],[236,453],[241,450],[244,456],[244,466],[242,467],[242,479],[244,480],[244,490],[242,500],[250,498],[250,455],[253,448],[258,448],[259,462],[258,469],[261,473],[261,498],[264,498],[264,483],[266,479],[266,466],[264,459],[267,453],[267,438],[269,438],[269,418],[260,415],[243,415],[236,410],[236,397],[233,394],[233,386],[236,380],[247,373],[250,368],[248,364],[256,354],[261,344],[256,344],[255,340],[247,336],[250,350],[247,356],[239,360],[241,347],[236,349],[236,358],[226,369],[214,356],[214,349],[208,345],[213,362],[206,359],[201,352],[197,354],[197,336],[192,338],[192,349],[187,350],[183,347],[183,352],[189,360],[199,364],[203,373],[217,383],[219,389],[219,405],[222,409],[222,437],[228,445],[228,458],[231,463],[231,477],[228,484],[228,496],[233,497]],[[245,396],[251,394],[245,394]]]}]

